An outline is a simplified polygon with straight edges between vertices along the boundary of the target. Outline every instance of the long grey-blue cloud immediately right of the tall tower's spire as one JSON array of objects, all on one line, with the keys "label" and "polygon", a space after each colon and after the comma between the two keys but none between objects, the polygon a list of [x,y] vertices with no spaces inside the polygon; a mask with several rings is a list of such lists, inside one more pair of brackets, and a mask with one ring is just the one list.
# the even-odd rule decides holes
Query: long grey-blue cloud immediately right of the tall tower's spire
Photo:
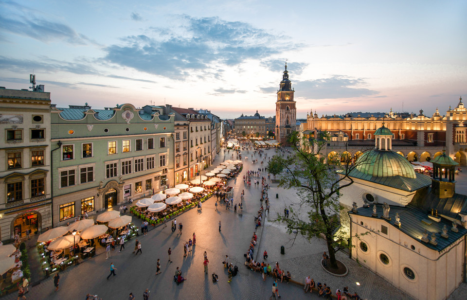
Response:
[{"label": "long grey-blue cloud immediately right of the tall tower's spire", "polygon": [[354,98],[379,93],[376,90],[362,88],[365,85],[367,83],[362,78],[333,75],[331,78],[297,81],[294,88],[300,93],[300,97],[306,99]]}]

